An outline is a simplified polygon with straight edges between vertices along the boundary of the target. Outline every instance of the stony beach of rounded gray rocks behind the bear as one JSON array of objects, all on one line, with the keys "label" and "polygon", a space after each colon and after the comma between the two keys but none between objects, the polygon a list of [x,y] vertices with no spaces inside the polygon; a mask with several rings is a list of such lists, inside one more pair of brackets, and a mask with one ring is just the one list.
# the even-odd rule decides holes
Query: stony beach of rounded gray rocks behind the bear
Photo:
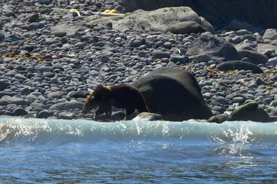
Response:
[{"label": "stony beach of rounded gray rocks behind the bear", "polygon": [[[193,73],[214,115],[257,102],[277,116],[275,29],[213,30],[190,8],[172,25],[172,9],[161,21],[155,13],[136,24],[133,13],[93,15],[121,12],[122,1],[0,0],[0,7],[0,116],[91,119],[80,113],[89,89],[134,84],[164,67]],[[160,31],[145,28],[152,20]]]}]

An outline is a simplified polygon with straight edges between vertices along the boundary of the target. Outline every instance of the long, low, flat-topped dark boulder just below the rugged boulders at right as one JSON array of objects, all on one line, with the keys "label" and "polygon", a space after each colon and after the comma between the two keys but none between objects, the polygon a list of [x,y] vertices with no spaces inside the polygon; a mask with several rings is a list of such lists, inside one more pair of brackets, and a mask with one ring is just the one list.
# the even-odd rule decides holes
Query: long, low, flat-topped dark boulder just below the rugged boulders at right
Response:
[{"label": "long, low, flat-topped dark boulder just below the rugged boulders at right", "polygon": [[242,61],[222,62],[217,65],[217,69],[220,71],[250,70],[253,71],[253,73],[263,73],[262,69],[256,64]]}]

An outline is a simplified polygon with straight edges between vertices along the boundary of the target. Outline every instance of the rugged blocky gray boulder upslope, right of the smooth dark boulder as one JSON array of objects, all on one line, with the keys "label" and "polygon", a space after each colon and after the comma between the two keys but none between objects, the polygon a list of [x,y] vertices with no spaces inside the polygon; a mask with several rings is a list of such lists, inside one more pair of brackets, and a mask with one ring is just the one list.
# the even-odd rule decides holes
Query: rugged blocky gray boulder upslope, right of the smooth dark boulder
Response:
[{"label": "rugged blocky gray boulder upslope, right of the smooth dark boulder", "polygon": [[225,39],[218,39],[211,33],[203,33],[197,37],[186,53],[188,56],[203,54],[208,55],[215,62],[239,60],[235,47],[226,42]]}]

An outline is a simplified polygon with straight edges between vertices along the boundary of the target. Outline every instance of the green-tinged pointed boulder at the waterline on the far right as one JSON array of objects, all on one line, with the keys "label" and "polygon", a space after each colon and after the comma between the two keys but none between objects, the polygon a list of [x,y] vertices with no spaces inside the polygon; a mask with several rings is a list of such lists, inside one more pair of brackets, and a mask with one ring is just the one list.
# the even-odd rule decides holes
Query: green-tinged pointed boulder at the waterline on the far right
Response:
[{"label": "green-tinged pointed boulder at the waterline on the far right", "polygon": [[255,122],[274,122],[268,113],[258,106],[257,102],[244,104],[230,114],[230,121],[255,121]]}]

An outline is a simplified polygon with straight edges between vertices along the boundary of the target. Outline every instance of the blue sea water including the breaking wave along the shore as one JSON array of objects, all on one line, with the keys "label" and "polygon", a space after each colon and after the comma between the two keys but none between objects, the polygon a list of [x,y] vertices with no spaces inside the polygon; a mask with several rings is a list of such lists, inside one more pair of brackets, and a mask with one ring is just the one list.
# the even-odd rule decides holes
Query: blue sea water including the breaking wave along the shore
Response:
[{"label": "blue sea water including the breaking wave along the shore", "polygon": [[0,118],[1,183],[274,183],[277,122]]}]

